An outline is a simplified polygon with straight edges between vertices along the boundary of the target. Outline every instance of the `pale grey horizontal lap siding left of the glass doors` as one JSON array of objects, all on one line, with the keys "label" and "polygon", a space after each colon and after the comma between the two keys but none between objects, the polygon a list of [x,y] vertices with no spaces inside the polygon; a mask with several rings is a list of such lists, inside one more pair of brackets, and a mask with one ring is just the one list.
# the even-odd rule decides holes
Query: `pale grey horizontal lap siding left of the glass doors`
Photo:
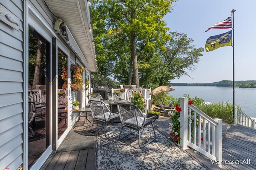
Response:
[{"label": "pale grey horizontal lap siding left of the glass doors", "polygon": [[23,1],[0,1],[20,19],[20,31],[0,21],[0,169],[23,163]]}]

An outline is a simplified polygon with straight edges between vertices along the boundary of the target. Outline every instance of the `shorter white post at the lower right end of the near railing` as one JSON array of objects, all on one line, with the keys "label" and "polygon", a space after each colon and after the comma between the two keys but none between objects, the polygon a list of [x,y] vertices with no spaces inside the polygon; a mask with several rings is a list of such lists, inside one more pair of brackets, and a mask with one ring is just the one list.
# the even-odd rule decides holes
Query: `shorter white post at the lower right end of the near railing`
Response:
[{"label": "shorter white post at the lower right end of the near railing", "polygon": [[[215,157],[218,161],[222,161],[222,119],[214,119],[218,122],[218,125],[215,129]],[[218,165],[222,168],[222,164]]]}]

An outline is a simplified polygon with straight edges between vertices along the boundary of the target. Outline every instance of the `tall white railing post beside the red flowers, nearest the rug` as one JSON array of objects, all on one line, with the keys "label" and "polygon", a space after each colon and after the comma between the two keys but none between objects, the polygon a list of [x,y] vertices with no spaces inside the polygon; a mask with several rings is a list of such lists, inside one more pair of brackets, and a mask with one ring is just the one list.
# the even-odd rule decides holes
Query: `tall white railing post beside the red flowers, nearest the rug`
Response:
[{"label": "tall white railing post beside the red flowers, nearest the rug", "polygon": [[188,149],[188,98],[180,98],[180,146]]}]

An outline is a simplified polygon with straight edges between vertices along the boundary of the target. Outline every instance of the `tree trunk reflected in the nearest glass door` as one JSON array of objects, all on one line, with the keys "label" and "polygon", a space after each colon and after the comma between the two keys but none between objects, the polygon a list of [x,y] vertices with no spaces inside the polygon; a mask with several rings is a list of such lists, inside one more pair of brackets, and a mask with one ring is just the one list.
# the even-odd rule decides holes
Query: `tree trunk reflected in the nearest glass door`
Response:
[{"label": "tree trunk reflected in the nearest glass door", "polygon": [[41,62],[43,58],[43,52],[44,52],[44,45],[41,40],[38,41],[38,47],[37,47],[37,58],[36,58],[36,66],[35,66],[35,72],[34,72],[34,81],[32,88],[36,88],[36,84],[41,83]]}]

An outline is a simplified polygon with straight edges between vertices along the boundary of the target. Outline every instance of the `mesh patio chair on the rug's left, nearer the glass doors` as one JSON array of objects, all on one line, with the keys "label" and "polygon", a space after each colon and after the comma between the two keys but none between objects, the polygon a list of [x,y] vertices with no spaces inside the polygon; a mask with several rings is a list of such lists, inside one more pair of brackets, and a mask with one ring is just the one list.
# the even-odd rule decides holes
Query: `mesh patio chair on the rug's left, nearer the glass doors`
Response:
[{"label": "mesh patio chair on the rug's left, nearer the glass doors", "polygon": [[[91,132],[98,131],[99,129],[105,128],[106,139],[113,137],[115,135],[118,135],[119,133],[111,136],[106,135],[108,122],[119,118],[118,112],[112,113],[110,109],[106,106],[106,104],[99,100],[89,100],[89,103],[90,103],[92,117],[93,117],[91,129],[90,129]],[[104,126],[98,127],[97,129],[92,131],[92,126],[94,124],[94,121],[104,123]]]}]

